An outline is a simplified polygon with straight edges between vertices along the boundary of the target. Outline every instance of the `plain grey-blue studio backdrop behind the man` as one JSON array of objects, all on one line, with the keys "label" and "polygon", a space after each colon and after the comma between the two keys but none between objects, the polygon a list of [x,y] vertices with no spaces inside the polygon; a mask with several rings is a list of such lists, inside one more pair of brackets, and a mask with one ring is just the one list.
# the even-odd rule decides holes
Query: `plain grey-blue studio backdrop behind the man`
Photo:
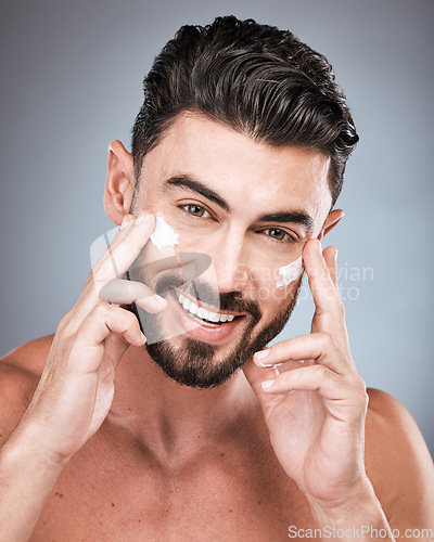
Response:
[{"label": "plain grey-blue studio backdrop behind the man", "polygon": [[[164,43],[220,14],[290,28],[334,66],[361,138],[339,202],[346,217],[328,238],[353,354],[433,453],[431,0],[3,2],[0,354],[53,333],[74,305],[89,246],[113,227],[102,204],[110,141],[129,146]],[[304,294],[279,339],[309,331]]]}]

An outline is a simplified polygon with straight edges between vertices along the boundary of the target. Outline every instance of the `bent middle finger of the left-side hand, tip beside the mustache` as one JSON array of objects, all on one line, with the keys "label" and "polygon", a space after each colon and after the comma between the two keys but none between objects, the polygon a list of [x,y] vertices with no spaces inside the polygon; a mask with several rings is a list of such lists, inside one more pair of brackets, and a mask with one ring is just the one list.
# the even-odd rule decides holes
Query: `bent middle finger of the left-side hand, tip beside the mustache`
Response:
[{"label": "bent middle finger of the left-side hand, tip beside the mustache", "polygon": [[[98,284],[97,284],[98,289]],[[167,301],[154,294],[151,288],[141,282],[112,279],[103,283],[99,297],[101,301],[117,305],[131,305],[137,302],[148,312],[162,312],[167,308]]]}]

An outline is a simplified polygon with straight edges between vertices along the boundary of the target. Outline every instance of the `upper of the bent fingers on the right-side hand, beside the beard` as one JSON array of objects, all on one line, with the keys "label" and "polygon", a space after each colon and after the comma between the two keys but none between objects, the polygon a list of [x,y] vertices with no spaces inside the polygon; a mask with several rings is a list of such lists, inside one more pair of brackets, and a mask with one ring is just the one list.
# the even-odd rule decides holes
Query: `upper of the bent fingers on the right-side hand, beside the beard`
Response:
[{"label": "upper of the bent fingers on the right-side hand, beside the beard", "polygon": [[311,333],[283,340],[256,352],[253,360],[263,367],[278,366],[290,360],[315,360],[341,376],[358,378],[353,359],[342,350],[330,333]]}]

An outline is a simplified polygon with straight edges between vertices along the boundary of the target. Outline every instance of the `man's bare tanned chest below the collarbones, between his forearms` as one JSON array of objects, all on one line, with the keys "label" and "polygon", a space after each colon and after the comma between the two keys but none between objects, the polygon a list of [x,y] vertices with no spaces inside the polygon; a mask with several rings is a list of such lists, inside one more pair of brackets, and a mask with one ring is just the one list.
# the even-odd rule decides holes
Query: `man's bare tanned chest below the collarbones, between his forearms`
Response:
[{"label": "man's bare tanned chest below the collarbones, between his forearms", "polygon": [[156,465],[72,461],[33,542],[279,541],[314,527],[303,495],[272,456],[216,454],[167,475]]}]

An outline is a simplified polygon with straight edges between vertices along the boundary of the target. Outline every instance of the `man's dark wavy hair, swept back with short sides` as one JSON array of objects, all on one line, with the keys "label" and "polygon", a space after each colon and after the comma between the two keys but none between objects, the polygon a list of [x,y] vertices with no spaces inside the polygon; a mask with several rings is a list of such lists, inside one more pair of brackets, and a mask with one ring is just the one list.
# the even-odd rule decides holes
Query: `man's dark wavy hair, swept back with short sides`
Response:
[{"label": "man's dark wavy hair, swept back with short sides", "polygon": [[137,183],[144,155],[180,113],[191,111],[256,141],[330,156],[334,205],[359,138],[332,66],[289,30],[234,16],[182,26],[155,57],[143,90],[132,128]]}]

